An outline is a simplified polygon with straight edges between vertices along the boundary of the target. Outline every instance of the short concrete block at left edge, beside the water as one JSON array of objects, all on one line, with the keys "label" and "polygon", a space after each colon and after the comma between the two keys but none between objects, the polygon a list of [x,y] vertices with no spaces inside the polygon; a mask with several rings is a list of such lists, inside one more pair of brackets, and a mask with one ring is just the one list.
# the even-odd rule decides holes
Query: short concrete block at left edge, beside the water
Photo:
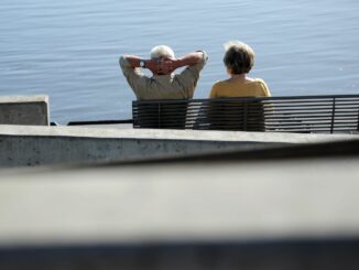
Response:
[{"label": "short concrete block at left edge, beside the water", "polygon": [[47,96],[0,97],[0,125],[48,126]]}]

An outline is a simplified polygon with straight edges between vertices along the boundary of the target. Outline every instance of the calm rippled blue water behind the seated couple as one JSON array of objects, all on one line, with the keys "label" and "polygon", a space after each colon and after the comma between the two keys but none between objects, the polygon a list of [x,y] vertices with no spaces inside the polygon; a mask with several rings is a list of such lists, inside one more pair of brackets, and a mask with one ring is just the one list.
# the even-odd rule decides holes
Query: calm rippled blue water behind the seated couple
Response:
[{"label": "calm rippled blue water behind the seated couple", "polygon": [[222,43],[257,52],[273,95],[359,93],[358,0],[1,0],[0,95],[46,94],[52,120],[126,119],[121,54],[156,44],[210,56],[195,97],[225,78]]}]

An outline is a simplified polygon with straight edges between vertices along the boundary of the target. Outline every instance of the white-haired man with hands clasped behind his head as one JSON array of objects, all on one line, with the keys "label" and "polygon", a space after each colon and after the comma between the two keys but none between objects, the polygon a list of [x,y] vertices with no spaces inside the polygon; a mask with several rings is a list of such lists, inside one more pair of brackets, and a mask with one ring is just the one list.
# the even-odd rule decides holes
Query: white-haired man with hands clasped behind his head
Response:
[{"label": "white-haired man with hands clasped behind his head", "polygon": [[[165,45],[153,47],[150,60],[134,55],[120,57],[123,75],[140,100],[192,98],[206,62],[205,52],[194,52],[176,58],[173,50]],[[184,66],[186,68],[180,74],[173,73]],[[145,76],[140,67],[150,69],[153,76]]]}]

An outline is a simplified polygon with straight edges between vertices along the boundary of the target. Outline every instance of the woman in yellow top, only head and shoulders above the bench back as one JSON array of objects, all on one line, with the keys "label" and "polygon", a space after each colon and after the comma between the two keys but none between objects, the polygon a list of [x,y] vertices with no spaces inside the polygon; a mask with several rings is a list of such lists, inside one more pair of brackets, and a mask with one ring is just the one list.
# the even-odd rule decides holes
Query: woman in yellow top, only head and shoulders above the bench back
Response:
[{"label": "woman in yellow top, only head and shoulders above the bench back", "polygon": [[254,65],[253,50],[239,41],[227,42],[225,48],[224,62],[229,78],[217,82],[209,97],[270,97],[271,93],[263,79],[248,77]]}]

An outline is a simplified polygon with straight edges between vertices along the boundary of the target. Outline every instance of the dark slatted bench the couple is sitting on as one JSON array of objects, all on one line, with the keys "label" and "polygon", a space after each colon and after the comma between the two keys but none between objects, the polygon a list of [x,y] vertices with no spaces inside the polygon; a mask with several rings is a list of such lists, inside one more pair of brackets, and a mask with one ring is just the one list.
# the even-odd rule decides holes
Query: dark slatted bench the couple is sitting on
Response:
[{"label": "dark slatted bench the couple is sitting on", "polygon": [[133,128],[356,133],[359,95],[132,102]]}]

